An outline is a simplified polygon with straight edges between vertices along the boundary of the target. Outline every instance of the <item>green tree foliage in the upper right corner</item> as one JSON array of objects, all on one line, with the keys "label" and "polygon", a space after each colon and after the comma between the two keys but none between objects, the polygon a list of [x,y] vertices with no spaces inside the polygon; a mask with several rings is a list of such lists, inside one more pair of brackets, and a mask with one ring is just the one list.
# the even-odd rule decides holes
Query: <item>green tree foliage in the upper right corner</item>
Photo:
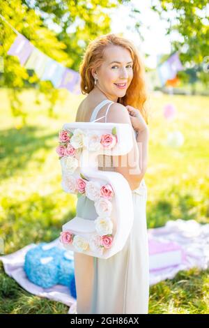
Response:
[{"label": "green tree foliage in the upper right corner", "polygon": [[171,51],[180,50],[180,61],[186,68],[199,67],[196,74],[208,85],[209,75],[203,70],[203,61],[209,54],[208,1],[156,0],[152,3],[152,9],[169,22],[167,34],[175,31],[180,36],[181,40],[171,42]]}]

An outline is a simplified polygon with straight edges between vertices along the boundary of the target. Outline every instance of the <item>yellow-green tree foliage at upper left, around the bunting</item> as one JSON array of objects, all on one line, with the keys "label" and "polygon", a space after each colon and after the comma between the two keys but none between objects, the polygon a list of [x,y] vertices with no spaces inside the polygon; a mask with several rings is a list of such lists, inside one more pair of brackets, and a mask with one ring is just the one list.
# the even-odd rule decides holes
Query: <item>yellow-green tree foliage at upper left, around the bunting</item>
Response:
[{"label": "yellow-green tree foliage at upper left, around the bunting", "polygon": [[[89,41],[110,31],[107,9],[122,2],[125,1],[0,0],[0,13],[39,50],[63,66],[78,70],[84,48]],[[105,10],[102,10],[104,8]],[[18,59],[8,56],[8,49],[15,36],[0,17],[0,57],[3,57],[4,61],[0,83],[10,89],[13,115],[21,116],[22,123],[25,124],[26,112],[22,111],[18,94],[26,87],[26,81],[36,84],[38,89],[45,93],[51,103],[49,113],[52,113],[59,92],[51,82],[40,81],[36,73],[31,74],[20,65]]]}]

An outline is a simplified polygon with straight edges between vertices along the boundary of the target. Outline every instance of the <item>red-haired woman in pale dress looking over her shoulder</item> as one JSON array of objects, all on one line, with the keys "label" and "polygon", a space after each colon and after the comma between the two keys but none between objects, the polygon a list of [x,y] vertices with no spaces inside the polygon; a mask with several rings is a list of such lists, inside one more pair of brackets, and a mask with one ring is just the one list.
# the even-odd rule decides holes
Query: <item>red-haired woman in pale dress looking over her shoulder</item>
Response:
[{"label": "red-haired woman in pale dress looking over her shoulder", "polygon": [[[133,128],[132,151],[125,156],[99,156],[99,169],[114,170],[127,179],[132,190],[134,223],[122,251],[111,258],[74,253],[77,313],[148,313],[147,190],[143,179],[148,158],[148,121],[144,109],[144,66],[129,40],[109,33],[88,45],[80,75],[82,93],[88,96],[79,105],[76,121],[96,118],[99,122],[130,124]],[[108,104],[108,100],[114,103]],[[127,165],[121,165],[127,156]],[[93,202],[85,195],[79,197],[77,215],[89,218],[94,214]]]}]

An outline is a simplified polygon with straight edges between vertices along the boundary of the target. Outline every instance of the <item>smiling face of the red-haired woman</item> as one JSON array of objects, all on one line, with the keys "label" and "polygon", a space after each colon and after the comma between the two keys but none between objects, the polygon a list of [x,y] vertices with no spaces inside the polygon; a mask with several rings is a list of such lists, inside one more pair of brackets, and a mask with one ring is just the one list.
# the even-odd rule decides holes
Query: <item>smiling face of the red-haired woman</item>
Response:
[{"label": "smiling face of the red-haired woman", "polygon": [[[108,46],[104,50],[104,61],[97,70],[93,70],[93,77],[97,78],[98,87],[108,99],[117,102],[118,97],[126,94],[133,78],[133,61],[130,52],[118,45]],[[125,87],[116,84],[125,84]]]}]

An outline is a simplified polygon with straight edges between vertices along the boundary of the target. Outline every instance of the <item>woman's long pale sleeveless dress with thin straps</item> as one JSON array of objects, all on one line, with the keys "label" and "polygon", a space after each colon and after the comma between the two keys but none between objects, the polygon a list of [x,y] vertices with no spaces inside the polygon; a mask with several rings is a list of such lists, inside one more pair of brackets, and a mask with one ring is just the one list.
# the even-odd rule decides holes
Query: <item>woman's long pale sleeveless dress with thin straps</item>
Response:
[{"label": "woman's long pale sleeveless dress with thin straps", "polygon": [[[91,121],[104,105],[103,100],[91,115]],[[135,131],[134,131],[135,132]],[[105,157],[105,166],[102,161]],[[107,161],[109,158],[109,162]],[[107,165],[108,163],[108,165]],[[112,156],[99,156],[99,170],[114,171]],[[134,223],[123,249],[108,259],[74,253],[77,314],[147,314],[149,298],[148,234],[146,223],[147,188],[142,179],[132,191]],[[128,204],[127,204],[128,206]],[[77,200],[77,215],[96,218],[94,202],[82,195]]]}]

